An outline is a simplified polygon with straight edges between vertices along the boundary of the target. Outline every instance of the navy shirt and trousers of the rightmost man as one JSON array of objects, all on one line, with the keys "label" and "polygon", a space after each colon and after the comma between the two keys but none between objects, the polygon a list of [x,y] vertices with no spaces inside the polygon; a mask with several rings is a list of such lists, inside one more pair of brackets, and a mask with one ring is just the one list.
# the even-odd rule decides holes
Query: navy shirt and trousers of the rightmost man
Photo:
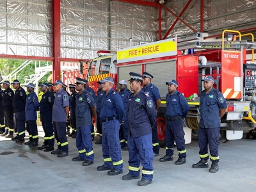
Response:
[{"label": "navy shirt and trousers of the rightmost man", "polygon": [[209,159],[208,143],[211,161],[218,162],[220,144],[220,109],[226,109],[226,100],[215,88],[209,93],[202,91],[200,96],[200,122],[198,132],[199,155],[201,159]]}]

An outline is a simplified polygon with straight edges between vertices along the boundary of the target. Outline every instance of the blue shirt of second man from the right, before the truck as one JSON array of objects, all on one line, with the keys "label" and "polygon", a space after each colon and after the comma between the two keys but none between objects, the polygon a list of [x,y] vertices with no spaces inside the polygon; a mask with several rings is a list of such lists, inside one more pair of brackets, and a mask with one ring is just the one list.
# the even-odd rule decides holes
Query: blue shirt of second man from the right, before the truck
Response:
[{"label": "blue shirt of second man from the right, before the truck", "polygon": [[175,90],[173,95],[170,93],[166,95],[166,116],[182,116],[182,118],[185,118],[188,115],[188,112],[189,104],[180,92]]}]

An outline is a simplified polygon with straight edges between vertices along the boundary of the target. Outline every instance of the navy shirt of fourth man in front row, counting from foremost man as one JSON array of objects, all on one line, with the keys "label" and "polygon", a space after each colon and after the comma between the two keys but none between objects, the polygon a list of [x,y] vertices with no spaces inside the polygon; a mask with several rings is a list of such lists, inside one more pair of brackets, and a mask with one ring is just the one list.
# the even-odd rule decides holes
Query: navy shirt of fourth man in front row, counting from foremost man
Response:
[{"label": "navy shirt of fourth man in front row, counting from foremost man", "polygon": [[66,122],[65,107],[69,106],[68,94],[62,88],[56,93],[52,108],[52,122]]}]

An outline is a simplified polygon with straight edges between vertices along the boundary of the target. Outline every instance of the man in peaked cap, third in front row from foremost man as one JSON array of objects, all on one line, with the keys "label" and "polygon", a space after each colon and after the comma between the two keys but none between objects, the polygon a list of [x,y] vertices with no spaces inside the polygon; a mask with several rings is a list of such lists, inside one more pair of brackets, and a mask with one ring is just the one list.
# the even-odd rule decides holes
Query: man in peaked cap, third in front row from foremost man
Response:
[{"label": "man in peaked cap, third in front row from foremost man", "polygon": [[84,161],[83,166],[89,166],[94,160],[91,127],[96,113],[96,103],[92,95],[85,90],[85,86],[86,81],[76,77],[76,147],[79,156],[74,157],[72,161]]}]

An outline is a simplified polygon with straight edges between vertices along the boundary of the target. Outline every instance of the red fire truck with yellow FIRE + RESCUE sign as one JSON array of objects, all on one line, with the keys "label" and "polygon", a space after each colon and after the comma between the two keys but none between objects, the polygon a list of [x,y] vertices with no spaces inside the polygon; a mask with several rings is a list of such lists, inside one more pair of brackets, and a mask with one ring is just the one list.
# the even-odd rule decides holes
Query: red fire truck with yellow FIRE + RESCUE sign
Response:
[{"label": "red fire truck with yellow FIRE + RESCUE sign", "polygon": [[[252,36],[252,42],[242,40]],[[206,33],[196,33],[185,38],[169,38],[116,52],[99,51],[91,60],[87,78],[90,86],[97,91],[97,81],[112,77],[117,88],[118,81],[130,79],[129,72],[154,76],[152,83],[161,95],[161,106],[157,113],[157,133],[160,143],[165,140],[165,96],[166,82],[175,79],[177,90],[184,94],[190,106],[184,120],[186,143],[191,142],[191,133],[196,134],[200,119],[200,93],[204,89],[201,82],[205,76],[214,77],[214,87],[227,100],[227,111],[221,118],[221,142],[237,140],[256,127],[255,86],[256,63],[253,51],[256,44],[253,35],[239,31],[224,30],[220,40],[205,40]],[[227,40],[226,40],[227,38]],[[246,59],[246,51],[252,50],[252,58]],[[117,63],[114,61],[117,60]],[[129,88],[129,86],[128,86]],[[254,119],[255,118],[255,119]]]}]

